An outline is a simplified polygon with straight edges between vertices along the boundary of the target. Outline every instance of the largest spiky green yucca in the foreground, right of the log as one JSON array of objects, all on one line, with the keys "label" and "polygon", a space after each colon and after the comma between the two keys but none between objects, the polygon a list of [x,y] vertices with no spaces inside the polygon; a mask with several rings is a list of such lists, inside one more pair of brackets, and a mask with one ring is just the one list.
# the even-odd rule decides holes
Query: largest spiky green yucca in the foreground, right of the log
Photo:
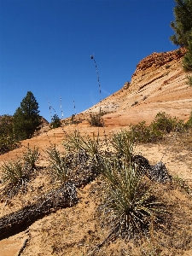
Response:
[{"label": "largest spiky green yucca in the foreground, right of the log", "polygon": [[157,220],[166,210],[143,186],[141,169],[131,161],[120,161],[102,163],[107,182],[105,207],[111,212],[113,232],[131,238],[148,230],[151,218]]}]

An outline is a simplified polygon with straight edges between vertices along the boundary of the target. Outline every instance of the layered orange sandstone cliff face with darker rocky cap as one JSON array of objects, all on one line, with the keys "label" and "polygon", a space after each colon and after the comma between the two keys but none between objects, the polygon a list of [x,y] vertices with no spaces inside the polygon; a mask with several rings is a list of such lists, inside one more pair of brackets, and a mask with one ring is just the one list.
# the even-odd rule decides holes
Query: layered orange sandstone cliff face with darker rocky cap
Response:
[{"label": "layered orange sandstone cliff face with darker rocky cap", "polygon": [[145,120],[149,124],[158,112],[189,119],[192,88],[186,84],[182,57],[185,49],[148,55],[137,65],[131,83],[104,99],[86,113],[102,111],[105,125],[130,125]]}]

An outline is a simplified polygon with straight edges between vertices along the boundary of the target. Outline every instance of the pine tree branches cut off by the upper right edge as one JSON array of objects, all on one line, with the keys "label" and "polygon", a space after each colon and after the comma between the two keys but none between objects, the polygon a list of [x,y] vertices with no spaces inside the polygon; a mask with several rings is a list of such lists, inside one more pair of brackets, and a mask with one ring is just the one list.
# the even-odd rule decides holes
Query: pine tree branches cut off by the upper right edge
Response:
[{"label": "pine tree branches cut off by the upper right edge", "polygon": [[[187,49],[183,57],[183,69],[192,73],[192,0],[175,0],[175,21],[171,27],[175,32],[170,38],[173,44],[184,46]],[[188,76],[189,84],[192,85],[192,76]]]}]

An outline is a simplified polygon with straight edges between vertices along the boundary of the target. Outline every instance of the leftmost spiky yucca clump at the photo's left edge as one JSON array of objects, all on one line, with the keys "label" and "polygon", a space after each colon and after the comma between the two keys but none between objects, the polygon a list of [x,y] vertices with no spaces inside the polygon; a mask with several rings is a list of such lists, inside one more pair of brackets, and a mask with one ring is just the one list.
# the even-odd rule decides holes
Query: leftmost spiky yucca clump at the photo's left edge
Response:
[{"label": "leftmost spiky yucca clump at the photo's left edge", "polygon": [[2,180],[6,184],[4,194],[13,197],[20,189],[26,190],[26,184],[30,178],[30,169],[24,166],[21,160],[4,162]]}]

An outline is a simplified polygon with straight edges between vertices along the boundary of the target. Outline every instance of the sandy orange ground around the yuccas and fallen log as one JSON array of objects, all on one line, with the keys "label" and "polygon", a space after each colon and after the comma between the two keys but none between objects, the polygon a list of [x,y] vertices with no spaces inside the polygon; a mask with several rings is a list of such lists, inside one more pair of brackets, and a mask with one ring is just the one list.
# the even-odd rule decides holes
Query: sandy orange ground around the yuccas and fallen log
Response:
[{"label": "sandy orange ground around the yuccas and fallen log", "polygon": [[[68,131],[73,132],[77,127],[70,127]],[[105,133],[110,133],[118,129],[108,128]],[[98,132],[98,128],[83,128],[82,134],[93,134]],[[100,129],[101,136],[103,135],[103,128]],[[50,143],[55,143],[58,148],[63,148],[61,143],[65,137],[61,128],[55,131],[49,131],[38,137],[33,137],[31,140],[23,141],[20,148],[15,149],[9,154],[0,155],[0,163],[3,164],[5,160],[13,160],[20,157],[23,150],[27,147],[28,143],[30,148],[38,147],[41,152],[41,157],[38,166],[43,168],[38,172],[30,183],[30,189],[23,195],[19,194],[10,200],[0,201],[0,217],[15,212],[16,210],[24,207],[30,201],[35,201],[39,195],[43,195],[49,191],[51,181],[46,170],[47,160],[45,158],[44,150],[49,147]],[[185,143],[185,141],[187,143]],[[190,150],[192,145],[191,134],[183,136],[182,139],[177,137],[168,137],[166,142],[137,145],[135,148],[136,154],[143,154],[148,158],[150,164],[156,164],[162,160],[166,164],[168,172],[174,177],[182,177],[190,186],[192,182],[192,152]],[[102,227],[101,219],[102,213],[98,213],[96,209],[102,201],[102,181],[101,178],[96,178],[95,181],[88,184],[82,189],[79,189],[79,203],[75,207],[58,210],[51,213],[49,216],[39,219],[30,225],[26,230],[16,232],[14,236],[9,236],[7,239],[0,241],[0,255],[1,256],[18,256],[18,255],[91,255],[90,252],[96,249],[96,244],[100,244],[108,236],[109,228]],[[1,188],[3,185],[1,184]],[[180,210],[186,209],[182,212],[186,223],[180,220],[180,230],[174,231],[174,242],[172,250],[170,245],[166,245],[164,249],[159,249],[160,254],[157,254],[160,244],[156,241],[143,241],[138,247],[132,242],[127,242],[118,238],[115,241],[109,241],[103,245],[99,250],[96,250],[96,255],[192,255],[192,247],[190,239],[192,234],[192,209],[191,201],[188,196],[181,193],[179,189],[169,190],[164,188],[165,196],[169,200],[174,200],[177,204],[179,201]],[[176,199],[177,198],[177,199]],[[181,203],[182,202],[182,203]],[[182,216],[181,214],[181,216]],[[177,217],[179,218],[179,217]],[[189,234],[186,234],[186,225],[188,226]],[[156,235],[160,236],[160,234]],[[165,236],[165,235],[164,235]],[[180,237],[179,245],[176,241]],[[191,236],[192,238],[192,236]],[[164,238],[165,239],[165,238]],[[166,244],[166,241],[161,241]],[[186,246],[185,243],[189,244]],[[153,247],[152,247],[153,245]],[[20,251],[23,247],[23,250]],[[145,253],[143,253],[145,252]],[[131,254],[130,254],[131,253]]]}]

